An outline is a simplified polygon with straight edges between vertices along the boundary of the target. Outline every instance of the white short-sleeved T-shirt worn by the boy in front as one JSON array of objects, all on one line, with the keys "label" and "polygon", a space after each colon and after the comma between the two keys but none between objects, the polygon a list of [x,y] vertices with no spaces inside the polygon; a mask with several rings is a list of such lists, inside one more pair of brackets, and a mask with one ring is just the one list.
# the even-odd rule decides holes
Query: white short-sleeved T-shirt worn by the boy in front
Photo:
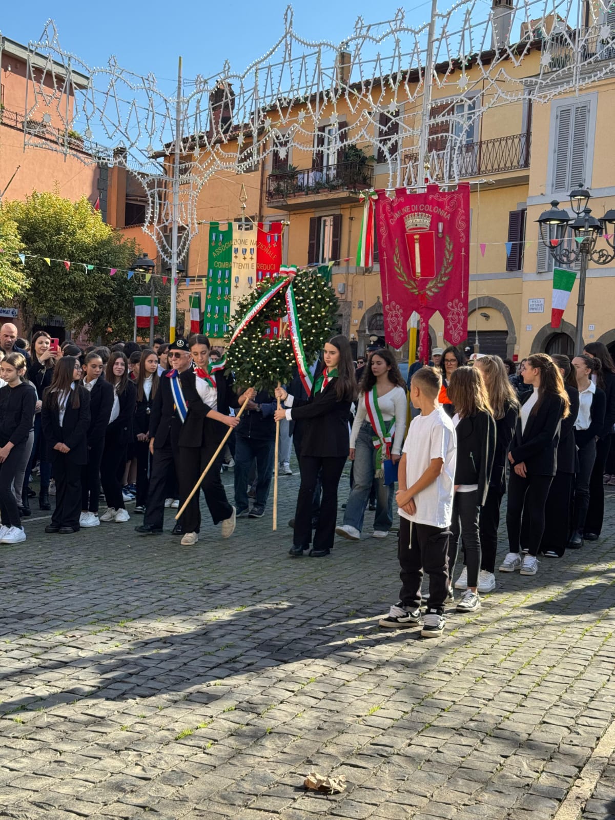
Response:
[{"label": "white short-sleeved T-shirt worn by the boy in front", "polygon": [[436,408],[429,416],[413,418],[403,444],[403,453],[406,453],[408,489],[421,478],[432,458],[441,458],[444,464],[440,476],[414,496],[417,512],[408,515],[405,510],[398,509],[399,515],[415,524],[429,524],[440,528],[450,526],[457,465],[457,440],[453,421],[441,408]]}]

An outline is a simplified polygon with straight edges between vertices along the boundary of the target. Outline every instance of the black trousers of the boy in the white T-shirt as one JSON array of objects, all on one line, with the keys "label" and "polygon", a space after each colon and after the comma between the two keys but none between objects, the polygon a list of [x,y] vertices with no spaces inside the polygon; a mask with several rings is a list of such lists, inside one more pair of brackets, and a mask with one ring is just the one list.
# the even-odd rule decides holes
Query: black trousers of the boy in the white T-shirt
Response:
[{"label": "black trousers of the boy in the white T-shirt", "polygon": [[421,606],[423,572],[429,576],[427,608],[444,613],[449,594],[449,535],[448,527],[440,529],[429,524],[414,524],[399,516],[397,557],[402,588],[399,599],[404,607]]}]

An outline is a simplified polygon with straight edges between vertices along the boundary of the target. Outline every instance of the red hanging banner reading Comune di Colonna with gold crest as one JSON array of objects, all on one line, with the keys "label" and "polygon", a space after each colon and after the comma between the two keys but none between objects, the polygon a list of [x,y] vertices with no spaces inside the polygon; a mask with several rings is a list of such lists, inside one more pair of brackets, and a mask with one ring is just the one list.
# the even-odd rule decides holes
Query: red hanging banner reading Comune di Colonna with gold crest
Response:
[{"label": "red hanging banner reading Comune di Colonna with gold crest", "polygon": [[[376,230],[385,339],[401,348],[408,339],[413,311],[421,330],[436,311],[444,319],[444,339],[467,338],[470,279],[470,186],[440,191],[427,185],[424,194],[399,188],[394,196],[377,191]],[[421,333],[421,358],[427,356],[427,333]]]}]

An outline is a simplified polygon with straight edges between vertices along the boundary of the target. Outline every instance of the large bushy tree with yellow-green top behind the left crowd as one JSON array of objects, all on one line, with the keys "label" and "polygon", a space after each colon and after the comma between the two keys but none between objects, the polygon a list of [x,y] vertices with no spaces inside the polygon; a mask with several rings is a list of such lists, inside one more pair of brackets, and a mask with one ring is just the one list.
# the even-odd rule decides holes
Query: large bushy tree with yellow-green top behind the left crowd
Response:
[{"label": "large bushy tree with yellow-green top behind the left crowd", "polygon": [[[26,253],[39,257],[26,257],[29,291],[27,298],[19,295],[28,328],[34,321],[61,316],[70,330],[87,326],[93,339],[132,336],[133,296],[149,287],[142,275],[128,280],[124,272],[141,254],[134,239],[103,222],[84,197],[71,202],[34,192],[24,201],[6,203],[3,210],[16,223]],[[44,257],[61,261],[48,264]],[[68,270],[63,260],[71,263]],[[118,269],[114,276],[111,268]],[[162,295],[162,283],[157,289]],[[160,296],[159,301],[161,307],[166,302]]]}]

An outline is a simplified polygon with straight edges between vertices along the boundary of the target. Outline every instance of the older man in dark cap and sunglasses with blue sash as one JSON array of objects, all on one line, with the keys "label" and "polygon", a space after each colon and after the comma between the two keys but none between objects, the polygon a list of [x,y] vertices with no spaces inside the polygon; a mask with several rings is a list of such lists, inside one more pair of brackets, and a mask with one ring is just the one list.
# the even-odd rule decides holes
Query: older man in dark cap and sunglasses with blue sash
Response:
[{"label": "older man in dark cap and sunglasses with blue sash", "polygon": [[[168,361],[173,366],[160,377],[160,387],[154,398],[149,416],[149,452],[152,454],[152,471],[149,476],[148,500],[145,503],[143,524],[134,527],[140,535],[162,533],[165,514],[166,485],[171,471],[179,472],[180,460],[180,412],[185,417],[188,408],[175,403],[172,382],[192,367],[192,356],[185,339],[175,339],[169,345]],[[178,396],[178,398],[181,398]],[[173,533],[182,532],[181,522],[175,524]]]}]

